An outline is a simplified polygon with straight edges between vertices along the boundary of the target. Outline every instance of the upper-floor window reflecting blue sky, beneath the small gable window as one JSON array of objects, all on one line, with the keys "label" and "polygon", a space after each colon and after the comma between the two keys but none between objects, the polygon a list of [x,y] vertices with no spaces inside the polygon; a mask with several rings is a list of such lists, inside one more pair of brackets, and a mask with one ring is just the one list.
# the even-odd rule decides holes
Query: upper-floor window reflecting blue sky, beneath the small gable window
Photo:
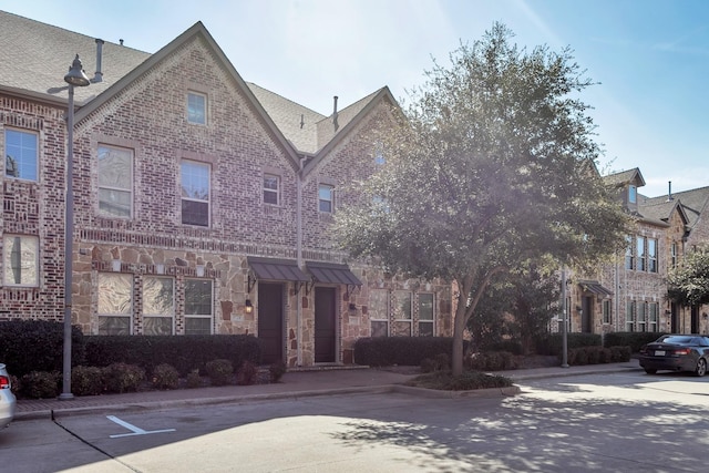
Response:
[{"label": "upper-floor window reflecting blue sky, beneath the small gable window", "polygon": [[184,160],[181,165],[182,223],[209,226],[212,167],[206,163]]}]

